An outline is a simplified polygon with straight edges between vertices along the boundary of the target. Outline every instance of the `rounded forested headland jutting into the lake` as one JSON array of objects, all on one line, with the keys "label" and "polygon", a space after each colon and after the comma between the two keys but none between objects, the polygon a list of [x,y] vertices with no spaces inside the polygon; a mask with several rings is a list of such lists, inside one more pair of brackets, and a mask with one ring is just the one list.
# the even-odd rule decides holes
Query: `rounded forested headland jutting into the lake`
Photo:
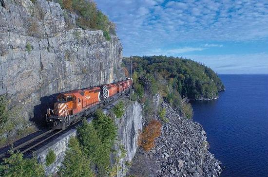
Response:
[{"label": "rounded forested headland jutting into the lake", "polygon": [[[123,62],[129,69],[130,58],[124,58]],[[167,95],[168,99],[172,99],[172,95],[178,92],[189,99],[210,100],[217,98],[219,91],[225,89],[214,71],[190,59],[162,55],[134,56],[132,64],[133,71],[136,71],[139,77],[150,78],[158,84],[167,80],[173,89]]]}]

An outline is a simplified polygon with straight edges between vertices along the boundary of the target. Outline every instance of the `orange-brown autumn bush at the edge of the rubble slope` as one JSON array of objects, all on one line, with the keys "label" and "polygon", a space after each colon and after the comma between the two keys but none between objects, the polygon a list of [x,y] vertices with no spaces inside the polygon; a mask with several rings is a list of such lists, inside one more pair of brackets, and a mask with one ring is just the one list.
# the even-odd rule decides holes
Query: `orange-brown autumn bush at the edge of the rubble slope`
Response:
[{"label": "orange-brown autumn bush at the edge of the rubble slope", "polygon": [[160,121],[152,120],[140,133],[138,138],[138,145],[145,151],[149,151],[154,147],[155,138],[161,135],[162,124]]}]

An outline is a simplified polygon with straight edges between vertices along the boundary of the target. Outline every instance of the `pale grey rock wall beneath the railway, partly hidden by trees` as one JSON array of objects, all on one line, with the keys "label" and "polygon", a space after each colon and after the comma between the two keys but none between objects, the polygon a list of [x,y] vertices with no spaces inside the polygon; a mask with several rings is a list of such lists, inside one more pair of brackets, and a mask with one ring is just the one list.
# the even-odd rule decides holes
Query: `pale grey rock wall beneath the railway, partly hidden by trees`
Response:
[{"label": "pale grey rock wall beneath the railway, partly hidden by trees", "polygon": [[[120,170],[118,170],[118,177],[121,177],[125,174],[125,161],[131,161],[134,158],[134,155],[137,150],[137,137],[139,130],[142,130],[143,125],[143,116],[142,116],[142,107],[137,102],[130,102],[125,99],[125,112],[124,115],[118,119],[115,118],[115,124],[118,128],[118,141],[122,143],[127,152],[126,157],[120,160]],[[104,109],[104,112],[107,114],[111,113],[111,108],[115,105],[110,105]],[[92,119],[88,119],[88,122],[91,122]],[[42,148],[38,149],[37,156],[38,161],[45,166],[45,159],[49,152],[49,149],[53,150],[56,154],[56,161],[49,165],[45,166],[45,174],[48,176],[50,174],[55,174],[58,170],[58,167],[61,166],[62,160],[64,159],[65,151],[68,148],[69,139],[71,136],[76,136],[77,130],[71,129],[67,133],[61,135],[52,142],[49,142]],[[115,147],[116,148],[116,147]],[[112,162],[113,163],[113,162]]]}]

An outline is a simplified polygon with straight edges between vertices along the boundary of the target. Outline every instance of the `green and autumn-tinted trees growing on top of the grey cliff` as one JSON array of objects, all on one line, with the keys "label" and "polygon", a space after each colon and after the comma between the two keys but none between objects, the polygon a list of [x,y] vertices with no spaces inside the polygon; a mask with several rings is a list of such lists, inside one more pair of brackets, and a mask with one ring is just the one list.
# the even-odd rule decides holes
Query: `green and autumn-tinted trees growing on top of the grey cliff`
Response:
[{"label": "green and autumn-tinted trees growing on top of the grey cliff", "polygon": [[83,29],[102,30],[107,40],[115,35],[115,23],[97,9],[93,0],[55,0],[62,9],[78,15],[77,25]]}]

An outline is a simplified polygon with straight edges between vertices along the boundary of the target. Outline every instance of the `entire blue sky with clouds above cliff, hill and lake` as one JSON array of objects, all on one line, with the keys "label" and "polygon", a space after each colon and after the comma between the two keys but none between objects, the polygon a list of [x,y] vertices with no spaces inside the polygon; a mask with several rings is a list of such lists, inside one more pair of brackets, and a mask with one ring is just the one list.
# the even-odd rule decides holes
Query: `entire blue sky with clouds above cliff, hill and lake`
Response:
[{"label": "entire blue sky with clouds above cliff, hill and lake", "polygon": [[268,74],[268,0],[95,0],[123,56],[167,55],[219,74]]}]

